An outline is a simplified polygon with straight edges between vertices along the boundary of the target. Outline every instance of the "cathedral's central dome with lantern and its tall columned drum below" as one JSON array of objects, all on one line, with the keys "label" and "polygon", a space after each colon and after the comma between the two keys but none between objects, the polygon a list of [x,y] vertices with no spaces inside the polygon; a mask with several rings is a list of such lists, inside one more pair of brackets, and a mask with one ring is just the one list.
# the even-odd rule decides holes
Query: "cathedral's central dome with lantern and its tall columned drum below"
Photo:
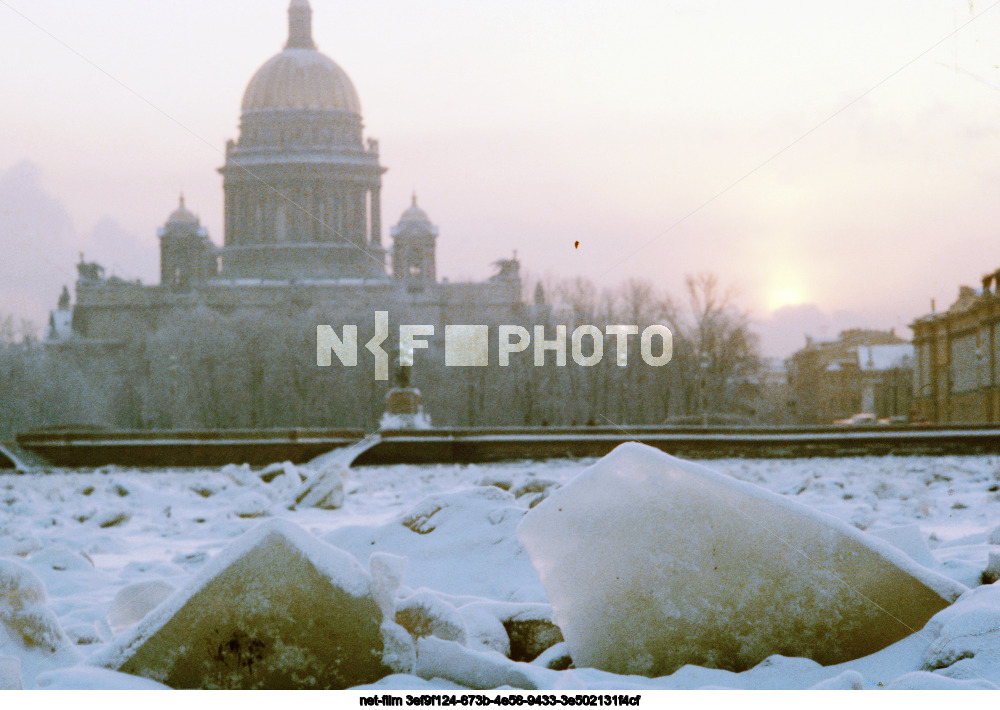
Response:
[{"label": "cathedral's central dome with lantern and its tall columned drum below", "polygon": [[221,172],[224,276],[386,278],[385,168],[350,78],[316,48],[308,0],[291,0],[284,49],[250,79]]}]

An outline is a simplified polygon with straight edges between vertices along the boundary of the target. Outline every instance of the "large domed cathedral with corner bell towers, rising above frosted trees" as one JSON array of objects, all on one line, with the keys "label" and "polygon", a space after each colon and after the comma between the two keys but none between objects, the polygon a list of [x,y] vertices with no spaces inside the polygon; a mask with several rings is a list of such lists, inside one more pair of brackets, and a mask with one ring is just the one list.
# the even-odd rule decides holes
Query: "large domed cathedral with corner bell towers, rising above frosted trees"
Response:
[{"label": "large domed cathedral with corner bell towers, rising above frosted trees", "polygon": [[[288,41],[250,79],[239,136],[222,174],[224,243],[180,204],[159,230],[160,283],[107,277],[77,265],[76,302],[60,299],[49,340],[113,346],[156,329],[178,309],[321,307],[331,321],[517,322],[524,312],[519,264],[496,262],[484,282],[438,280],[438,228],[417,204],[382,241],[378,142],[365,138],[350,78],[313,41],[308,0],[291,0]],[[65,294],[64,294],[65,296]]]}]

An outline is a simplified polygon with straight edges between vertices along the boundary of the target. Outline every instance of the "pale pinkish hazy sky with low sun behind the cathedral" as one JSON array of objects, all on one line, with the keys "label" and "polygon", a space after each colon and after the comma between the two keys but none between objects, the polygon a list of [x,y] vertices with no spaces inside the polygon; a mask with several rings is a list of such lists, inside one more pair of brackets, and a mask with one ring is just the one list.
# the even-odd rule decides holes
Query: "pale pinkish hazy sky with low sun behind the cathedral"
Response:
[{"label": "pale pinkish hazy sky with low sun behind the cathedral", "polygon": [[[0,0],[0,315],[79,252],[158,280],[183,191],[221,244],[226,140],[287,0]],[[952,0],[312,0],[438,273],[733,285],[787,355],[906,327],[1000,267],[1000,7]],[[575,243],[579,242],[579,246]]]}]

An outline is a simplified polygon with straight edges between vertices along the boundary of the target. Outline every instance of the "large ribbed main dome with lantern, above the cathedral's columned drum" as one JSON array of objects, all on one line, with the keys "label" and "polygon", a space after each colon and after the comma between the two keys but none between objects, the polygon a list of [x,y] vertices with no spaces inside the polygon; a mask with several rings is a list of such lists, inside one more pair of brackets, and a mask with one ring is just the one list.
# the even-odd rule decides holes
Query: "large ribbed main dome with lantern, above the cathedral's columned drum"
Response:
[{"label": "large ribbed main dome with lantern, above the cathedral's columned drum", "polygon": [[307,0],[288,8],[288,43],[254,74],[243,94],[243,113],[267,109],[318,109],[360,114],[347,73],[316,49]]}]

